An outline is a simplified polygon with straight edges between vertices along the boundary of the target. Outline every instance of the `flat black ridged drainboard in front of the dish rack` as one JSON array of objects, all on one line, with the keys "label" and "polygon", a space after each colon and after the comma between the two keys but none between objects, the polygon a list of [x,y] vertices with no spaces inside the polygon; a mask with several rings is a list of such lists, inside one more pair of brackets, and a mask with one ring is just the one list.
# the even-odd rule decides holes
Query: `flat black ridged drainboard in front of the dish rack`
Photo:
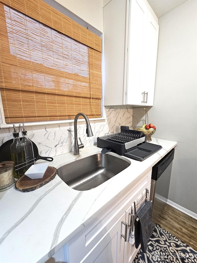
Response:
[{"label": "flat black ridged drainboard in front of the dish rack", "polygon": [[124,156],[137,161],[143,161],[152,154],[159,151],[161,148],[161,145],[156,145],[150,142],[144,142],[142,144],[139,144],[138,146],[134,146],[128,149]]}]

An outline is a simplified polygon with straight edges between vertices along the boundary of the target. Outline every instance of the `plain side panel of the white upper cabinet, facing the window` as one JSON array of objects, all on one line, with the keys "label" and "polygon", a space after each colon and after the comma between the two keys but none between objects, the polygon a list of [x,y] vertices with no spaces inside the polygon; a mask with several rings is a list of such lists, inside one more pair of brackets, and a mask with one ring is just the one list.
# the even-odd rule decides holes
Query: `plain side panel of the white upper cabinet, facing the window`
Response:
[{"label": "plain side panel of the white upper cabinet, facing the window", "polygon": [[103,8],[103,103],[124,105],[127,1],[112,0]]}]

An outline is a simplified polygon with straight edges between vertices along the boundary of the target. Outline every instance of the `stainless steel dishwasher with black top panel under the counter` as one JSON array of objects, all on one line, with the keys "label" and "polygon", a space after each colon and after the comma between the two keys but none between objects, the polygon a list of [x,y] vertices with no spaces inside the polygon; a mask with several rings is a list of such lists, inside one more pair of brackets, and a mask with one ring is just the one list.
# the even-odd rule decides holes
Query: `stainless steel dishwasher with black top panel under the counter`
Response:
[{"label": "stainless steel dishwasher with black top panel under the counter", "polygon": [[[158,223],[159,216],[168,200],[174,152],[175,149],[172,149],[152,168],[150,200],[153,200],[153,221],[155,223]],[[156,212],[156,207],[159,212]]]}]

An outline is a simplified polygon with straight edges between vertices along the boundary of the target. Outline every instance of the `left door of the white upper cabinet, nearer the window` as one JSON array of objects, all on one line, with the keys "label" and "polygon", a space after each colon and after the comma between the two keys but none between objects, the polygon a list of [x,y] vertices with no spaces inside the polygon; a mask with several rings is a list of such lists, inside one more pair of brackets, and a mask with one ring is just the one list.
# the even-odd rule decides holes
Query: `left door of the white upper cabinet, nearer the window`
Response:
[{"label": "left door of the white upper cabinet, nearer the window", "polygon": [[147,6],[142,0],[131,0],[128,21],[126,104],[141,105],[145,72]]}]

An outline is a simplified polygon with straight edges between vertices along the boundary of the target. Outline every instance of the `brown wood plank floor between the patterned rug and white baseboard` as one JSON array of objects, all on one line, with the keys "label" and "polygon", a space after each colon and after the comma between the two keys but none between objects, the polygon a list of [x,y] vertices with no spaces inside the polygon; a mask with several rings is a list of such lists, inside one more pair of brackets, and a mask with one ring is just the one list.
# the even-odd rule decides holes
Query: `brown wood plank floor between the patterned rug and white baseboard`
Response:
[{"label": "brown wood plank floor between the patterned rug and white baseboard", "polygon": [[197,220],[155,199],[153,221],[197,251]]}]

